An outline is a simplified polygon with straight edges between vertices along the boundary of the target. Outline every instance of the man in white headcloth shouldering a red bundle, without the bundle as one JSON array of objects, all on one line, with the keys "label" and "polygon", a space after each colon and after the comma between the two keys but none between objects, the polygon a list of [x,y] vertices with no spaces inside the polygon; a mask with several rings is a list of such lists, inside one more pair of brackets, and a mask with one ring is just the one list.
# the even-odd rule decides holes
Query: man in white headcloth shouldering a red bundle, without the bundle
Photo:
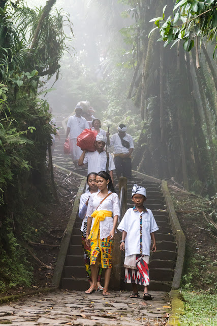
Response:
[{"label": "man in white headcloth shouldering a red bundle, without the bundle", "polygon": [[[78,165],[82,166],[87,163],[87,174],[90,172],[100,172],[106,171],[106,164],[108,158],[108,173],[111,177],[113,183],[113,170],[115,170],[115,165],[113,158],[110,153],[106,153],[104,151],[104,147],[106,144],[106,137],[103,135],[98,134],[96,137],[96,151],[95,152],[88,152],[84,150],[81,154],[81,157],[78,160]],[[107,157],[108,156],[108,157]]]}]

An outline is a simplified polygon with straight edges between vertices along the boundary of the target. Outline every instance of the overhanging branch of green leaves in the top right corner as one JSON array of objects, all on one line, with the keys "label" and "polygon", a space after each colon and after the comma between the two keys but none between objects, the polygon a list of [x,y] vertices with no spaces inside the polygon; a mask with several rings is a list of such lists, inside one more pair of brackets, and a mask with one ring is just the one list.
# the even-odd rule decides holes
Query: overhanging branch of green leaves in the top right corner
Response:
[{"label": "overhanging branch of green leaves in the top right corner", "polygon": [[157,25],[155,29],[160,30],[162,37],[159,40],[165,42],[164,46],[171,42],[173,46],[182,40],[185,51],[191,51],[195,44],[195,37],[198,36],[201,42],[206,37],[208,42],[213,40],[216,43],[217,5],[214,0],[176,0],[173,15],[170,13],[167,19],[165,9],[166,6],[162,17],[150,20]]}]

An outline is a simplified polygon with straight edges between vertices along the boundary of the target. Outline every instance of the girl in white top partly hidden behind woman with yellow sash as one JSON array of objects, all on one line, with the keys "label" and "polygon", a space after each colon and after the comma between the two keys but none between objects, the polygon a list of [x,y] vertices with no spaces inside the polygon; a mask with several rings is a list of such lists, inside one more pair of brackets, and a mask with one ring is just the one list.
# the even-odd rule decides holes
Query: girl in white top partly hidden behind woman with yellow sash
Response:
[{"label": "girl in white top partly hidden behind woman with yellow sash", "polygon": [[[87,274],[87,279],[92,285],[92,279],[91,279],[91,270],[90,270],[90,247],[87,246],[86,244],[86,229],[87,229],[87,205],[89,201],[89,196],[93,193],[98,193],[98,187],[96,183],[96,172],[91,172],[87,175],[87,192],[81,195],[80,198],[80,204],[79,204],[79,213],[78,216],[80,219],[82,219],[82,224],[81,224],[81,244],[82,244],[82,249],[84,252],[84,264],[86,267],[86,274]],[[101,277],[102,277],[102,271],[103,268],[100,267],[98,269],[98,278],[97,278],[97,286],[98,286],[98,291],[103,290],[103,286],[100,284]]]}]

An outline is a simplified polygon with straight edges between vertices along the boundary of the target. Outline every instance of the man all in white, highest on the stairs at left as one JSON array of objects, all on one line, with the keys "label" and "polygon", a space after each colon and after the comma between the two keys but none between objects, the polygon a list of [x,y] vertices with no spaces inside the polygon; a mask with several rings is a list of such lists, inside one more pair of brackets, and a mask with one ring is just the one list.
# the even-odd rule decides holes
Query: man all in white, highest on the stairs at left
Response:
[{"label": "man all in white, highest on the stairs at left", "polygon": [[68,138],[69,135],[70,151],[71,151],[73,163],[76,167],[78,164],[78,159],[82,154],[81,148],[77,146],[77,137],[84,129],[89,128],[86,119],[83,118],[81,114],[82,114],[82,106],[76,105],[75,115],[69,118],[67,123],[67,132],[66,132],[66,138]]}]

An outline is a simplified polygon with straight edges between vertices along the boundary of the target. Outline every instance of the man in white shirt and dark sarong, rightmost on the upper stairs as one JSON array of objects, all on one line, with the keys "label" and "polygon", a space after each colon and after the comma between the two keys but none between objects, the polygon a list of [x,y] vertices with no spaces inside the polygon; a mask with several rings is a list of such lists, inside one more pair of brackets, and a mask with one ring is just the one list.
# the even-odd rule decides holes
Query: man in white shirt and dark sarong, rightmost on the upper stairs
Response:
[{"label": "man in white shirt and dark sarong, rightmost on the upper stairs", "polygon": [[134,150],[133,138],[126,133],[125,124],[120,124],[117,128],[118,133],[113,134],[111,140],[108,141],[109,146],[114,147],[114,164],[117,179],[123,174],[123,177],[132,178],[132,162],[131,154]]}]

